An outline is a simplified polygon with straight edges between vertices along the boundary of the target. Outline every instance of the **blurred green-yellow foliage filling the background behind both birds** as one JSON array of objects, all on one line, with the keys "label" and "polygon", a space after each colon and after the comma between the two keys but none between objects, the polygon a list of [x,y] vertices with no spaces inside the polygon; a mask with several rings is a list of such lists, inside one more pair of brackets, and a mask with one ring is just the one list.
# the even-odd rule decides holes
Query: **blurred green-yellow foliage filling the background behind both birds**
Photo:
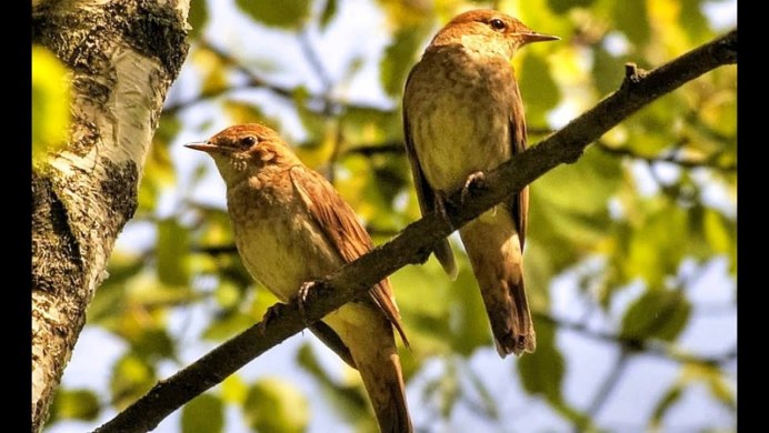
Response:
[{"label": "blurred green-yellow foliage filling the background behind both birds", "polygon": [[[124,349],[110,366],[109,390],[62,387],[51,423],[94,420],[102,410],[124,407],[159,379],[161,366],[167,372],[169,365],[180,369],[193,361],[186,351],[191,342],[202,341],[196,352],[202,353],[258,321],[276,302],[234,252],[213,164],[187,153],[181,143],[231,123],[259,121],[278,129],[308,165],[333,180],[381,243],[420,216],[402,151],[400,98],[410,67],[451,17],[497,7],[562,38],[527,47],[512,62],[535,145],[616,90],[625,62],[655,68],[723,32],[703,12],[728,10],[723,3],[193,1],[189,61],[169,93],[139,210],[126,229],[144,232],[146,240],[119,243],[110,278],[88,314],[88,326],[109,331]],[[61,140],[57,131],[64,125],[56,122],[66,119],[67,100],[52,95],[61,94],[62,75],[49,53],[33,50],[33,154]],[[411,351],[401,351],[401,362],[417,426],[527,431],[535,415],[519,416],[520,411],[541,402],[537,425],[548,431],[565,423],[675,430],[681,422],[681,429],[733,430],[736,112],[736,68],[720,68],[645,108],[577,163],[532,184],[526,255],[527,286],[539,318],[532,355],[496,358],[475,278],[453,238],[456,282],[435,259],[393,274],[412,343]],[[713,306],[709,299],[720,301]],[[721,315],[708,315],[713,309]],[[713,335],[708,320],[726,325]],[[306,334],[306,341],[312,339]],[[703,340],[721,344],[712,349]],[[613,355],[598,363],[597,353]],[[659,365],[618,361],[623,362],[618,384],[610,374],[612,359],[636,356]],[[330,362],[314,343],[301,344],[282,362],[310,377],[312,386],[297,387],[291,383],[298,377],[271,369],[256,380],[240,372],[188,404],[180,429],[228,431],[230,407],[254,431],[329,430],[317,424],[318,411],[331,411],[333,422],[354,431],[372,429],[353,370]],[[501,369],[503,374],[479,366],[489,362],[510,367]],[[596,366],[578,373],[586,363]],[[661,379],[660,369],[672,369],[667,376],[673,379]],[[650,377],[660,381],[657,391],[639,386]],[[696,387],[707,392],[691,392]],[[307,394],[309,389],[320,395]],[[519,395],[527,397],[519,401]],[[616,401],[627,395],[632,401]],[[699,405],[691,399],[700,399]],[[618,427],[612,422],[623,414],[601,410],[609,405],[625,407],[637,421]],[[726,415],[703,417],[703,405]]]}]

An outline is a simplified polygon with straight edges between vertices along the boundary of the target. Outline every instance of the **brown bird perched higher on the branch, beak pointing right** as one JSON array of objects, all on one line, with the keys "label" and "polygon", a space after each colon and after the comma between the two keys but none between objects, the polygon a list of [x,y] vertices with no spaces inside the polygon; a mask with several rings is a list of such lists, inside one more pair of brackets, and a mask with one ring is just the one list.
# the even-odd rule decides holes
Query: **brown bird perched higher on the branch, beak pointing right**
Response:
[{"label": "brown bird perched higher on the branch, beak pointing right", "polygon": [[[445,212],[447,194],[526,149],[510,60],[527,43],[557,39],[493,10],[459,14],[436,34],[403,94],[406,149],[422,213]],[[537,345],[523,289],[528,208],[527,187],[459,230],[502,358]],[[455,278],[448,240],[433,251]]]}]

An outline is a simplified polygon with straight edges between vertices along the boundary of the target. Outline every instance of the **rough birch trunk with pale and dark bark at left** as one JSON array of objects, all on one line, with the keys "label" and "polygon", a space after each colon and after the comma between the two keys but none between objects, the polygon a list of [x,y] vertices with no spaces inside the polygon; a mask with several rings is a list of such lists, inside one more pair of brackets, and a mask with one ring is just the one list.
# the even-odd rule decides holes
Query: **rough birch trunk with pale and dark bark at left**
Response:
[{"label": "rough birch trunk with pale and dark bark at left", "polygon": [[32,42],[72,73],[67,147],[32,170],[36,432],[137,208],[162,103],[187,57],[188,9],[189,0],[33,2]]}]

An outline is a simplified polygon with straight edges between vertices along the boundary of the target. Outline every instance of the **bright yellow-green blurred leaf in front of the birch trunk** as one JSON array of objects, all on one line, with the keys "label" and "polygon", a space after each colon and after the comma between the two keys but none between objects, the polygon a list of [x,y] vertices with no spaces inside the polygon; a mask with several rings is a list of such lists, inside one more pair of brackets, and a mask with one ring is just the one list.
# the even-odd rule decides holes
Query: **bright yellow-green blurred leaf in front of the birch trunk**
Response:
[{"label": "bright yellow-green blurred leaf in front of the birch trunk", "polygon": [[69,70],[46,48],[32,46],[32,158],[63,149],[69,133]]}]

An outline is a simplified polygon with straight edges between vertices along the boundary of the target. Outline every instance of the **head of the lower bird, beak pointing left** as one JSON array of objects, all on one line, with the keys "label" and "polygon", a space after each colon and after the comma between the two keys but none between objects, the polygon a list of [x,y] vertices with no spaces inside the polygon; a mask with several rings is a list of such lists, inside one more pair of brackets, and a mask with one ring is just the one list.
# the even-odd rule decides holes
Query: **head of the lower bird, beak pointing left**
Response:
[{"label": "head of the lower bird, beak pointing left", "polygon": [[210,154],[228,184],[266,167],[300,163],[276,131],[258,123],[230,127],[207,141],[184,147]]}]

